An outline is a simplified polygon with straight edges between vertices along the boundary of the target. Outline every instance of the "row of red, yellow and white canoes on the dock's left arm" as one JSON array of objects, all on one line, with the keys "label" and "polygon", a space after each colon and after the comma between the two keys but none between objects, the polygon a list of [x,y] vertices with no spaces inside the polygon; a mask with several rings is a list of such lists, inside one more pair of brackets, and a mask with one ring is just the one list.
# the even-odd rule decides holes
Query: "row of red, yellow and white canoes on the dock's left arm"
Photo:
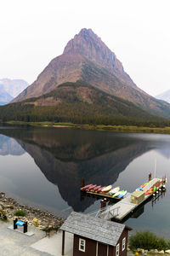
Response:
[{"label": "row of red, yellow and white canoes on the dock's left arm", "polygon": [[127,190],[120,190],[120,187],[112,188],[111,185],[102,187],[102,186],[97,186],[96,184],[88,184],[85,187],[82,188],[82,191],[91,191],[95,193],[104,193],[107,195],[111,195],[113,198],[118,197],[122,198],[127,194]]}]

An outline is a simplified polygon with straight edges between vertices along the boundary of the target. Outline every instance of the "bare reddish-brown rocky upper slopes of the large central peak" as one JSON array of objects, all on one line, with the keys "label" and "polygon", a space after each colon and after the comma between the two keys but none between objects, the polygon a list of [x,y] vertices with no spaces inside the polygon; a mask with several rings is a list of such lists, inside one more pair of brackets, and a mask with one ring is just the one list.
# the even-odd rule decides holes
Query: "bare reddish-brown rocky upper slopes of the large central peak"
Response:
[{"label": "bare reddish-brown rocky upper slopes of the large central peak", "polygon": [[65,82],[82,80],[105,92],[134,102],[140,108],[170,117],[170,105],[149,96],[124,72],[116,55],[91,29],[82,29],[65,46],[62,55],[50,61],[37,80],[13,102],[41,96]]}]

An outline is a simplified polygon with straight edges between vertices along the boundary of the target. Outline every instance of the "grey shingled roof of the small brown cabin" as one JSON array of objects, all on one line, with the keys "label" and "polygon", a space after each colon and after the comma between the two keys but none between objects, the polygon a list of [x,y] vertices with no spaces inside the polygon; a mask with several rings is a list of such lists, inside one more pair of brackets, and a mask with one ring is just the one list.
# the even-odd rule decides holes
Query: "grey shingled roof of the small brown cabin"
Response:
[{"label": "grey shingled roof of the small brown cabin", "polygon": [[[60,229],[115,247],[125,228],[124,224],[95,218],[88,214],[71,212]],[[127,227],[127,230],[129,229]]]}]

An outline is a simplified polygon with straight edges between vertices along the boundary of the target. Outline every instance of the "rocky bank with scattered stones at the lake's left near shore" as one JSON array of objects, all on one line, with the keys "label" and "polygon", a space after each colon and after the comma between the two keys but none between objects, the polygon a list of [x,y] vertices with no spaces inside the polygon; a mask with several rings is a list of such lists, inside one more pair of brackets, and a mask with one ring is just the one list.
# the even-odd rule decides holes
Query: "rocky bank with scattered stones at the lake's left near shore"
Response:
[{"label": "rocky bank with scattered stones at the lake's left near shore", "polygon": [[[18,210],[25,211],[26,216],[15,216],[14,212]],[[59,226],[64,222],[63,218],[57,218],[51,212],[21,205],[13,198],[6,197],[3,192],[0,192],[0,212],[2,213],[1,215],[6,216],[8,220],[19,218],[22,221],[27,221],[28,225],[34,225],[41,230],[46,229],[47,227],[51,229],[59,228]]]}]

